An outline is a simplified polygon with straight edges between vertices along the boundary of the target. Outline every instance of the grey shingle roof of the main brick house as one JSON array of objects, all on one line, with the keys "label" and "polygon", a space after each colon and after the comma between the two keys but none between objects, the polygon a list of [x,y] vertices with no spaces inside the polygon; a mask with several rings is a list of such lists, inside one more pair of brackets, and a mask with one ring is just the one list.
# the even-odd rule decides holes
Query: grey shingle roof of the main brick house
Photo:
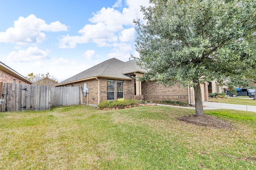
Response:
[{"label": "grey shingle roof of the main brick house", "polygon": [[131,78],[125,74],[135,72],[145,72],[138,65],[136,65],[135,60],[124,62],[119,59],[112,58],[103,61],[102,63],[99,63],[98,65],[95,65],[85,71],[82,71],[81,73],[60,82],[55,86],[94,79],[95,77],[130,80]]}]

